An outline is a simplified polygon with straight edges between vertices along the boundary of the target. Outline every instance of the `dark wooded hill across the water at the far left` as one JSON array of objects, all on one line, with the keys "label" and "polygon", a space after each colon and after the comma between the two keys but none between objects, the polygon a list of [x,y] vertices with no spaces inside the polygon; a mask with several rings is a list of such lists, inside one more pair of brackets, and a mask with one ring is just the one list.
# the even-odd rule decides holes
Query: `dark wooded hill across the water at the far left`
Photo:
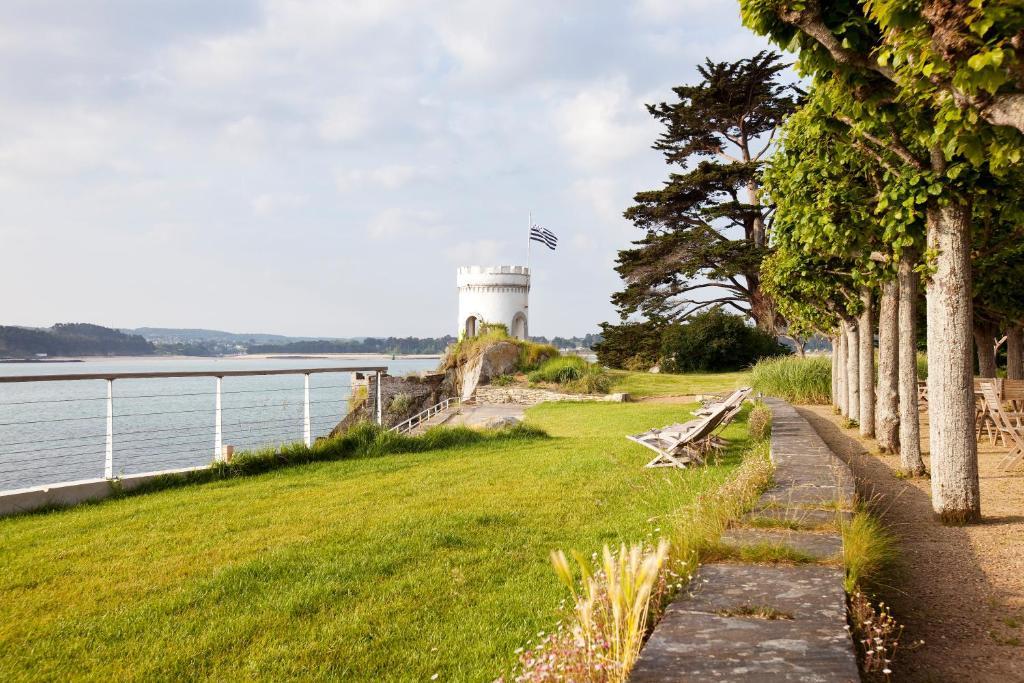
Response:
[{"label": "dark wooded hill across the water at the far left", "polygon": [[139,335],[98,325],[58,323],[52,328],[0,326],[0,357],[46,355],[152,355],[156,346]]}]

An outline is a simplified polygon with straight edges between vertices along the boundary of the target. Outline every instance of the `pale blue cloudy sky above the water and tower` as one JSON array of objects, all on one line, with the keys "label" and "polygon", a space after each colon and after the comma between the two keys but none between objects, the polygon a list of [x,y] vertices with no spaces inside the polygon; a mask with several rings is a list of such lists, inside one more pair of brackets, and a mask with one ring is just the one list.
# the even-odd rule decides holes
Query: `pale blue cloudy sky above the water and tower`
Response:
[{"label": "pale blue cloudy sky above the water and tower", "polygon": [[532,212],[530,333],[596,332],[644,103],[766,47],[733,0],[4,0],[0,324],[455,334]]}]

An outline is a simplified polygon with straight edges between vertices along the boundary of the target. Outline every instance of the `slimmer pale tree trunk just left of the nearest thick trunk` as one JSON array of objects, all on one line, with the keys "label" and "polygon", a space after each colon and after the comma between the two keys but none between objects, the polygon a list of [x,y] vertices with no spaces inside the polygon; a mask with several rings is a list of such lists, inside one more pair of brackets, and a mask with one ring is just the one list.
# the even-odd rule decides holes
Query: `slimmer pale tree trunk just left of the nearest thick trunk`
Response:
[{"label": "slimmer pale tree trunk just left of the nearest thick trunk", "polygon": [[913,257],[899,262],[899,462],[903,474],[921,476],[921,414],[918,412],[918,273]]}]

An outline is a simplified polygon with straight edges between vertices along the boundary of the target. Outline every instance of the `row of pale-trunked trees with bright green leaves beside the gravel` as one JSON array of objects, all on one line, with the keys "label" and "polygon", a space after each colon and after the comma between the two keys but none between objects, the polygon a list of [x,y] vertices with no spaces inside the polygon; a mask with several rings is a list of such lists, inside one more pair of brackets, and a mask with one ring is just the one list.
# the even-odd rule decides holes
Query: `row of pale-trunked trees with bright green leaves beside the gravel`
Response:
[{"label": "row of pale-trunked trees with bright green leaves beside the gravel", "polygon": [[977,520],[974,341],[993,376],[997,330],[1019,362],[1024,318],[1024,7],[740,4],[812,79],[765,175],[775,204],[766,287],[791,328],[835,335],[840,408],[920,473],[912,326],[924,278],[932,503],[946,521]]}]

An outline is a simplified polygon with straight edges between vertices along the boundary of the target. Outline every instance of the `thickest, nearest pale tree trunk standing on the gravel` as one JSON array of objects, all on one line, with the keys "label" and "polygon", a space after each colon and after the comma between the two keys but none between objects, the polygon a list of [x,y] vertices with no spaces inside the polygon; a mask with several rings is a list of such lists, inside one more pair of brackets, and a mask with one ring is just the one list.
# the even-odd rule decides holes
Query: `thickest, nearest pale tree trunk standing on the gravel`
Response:
[{"label": "thickest, nearest pale tree trunk standing on the gravel", "polygon": [[945,523],[981,518],[972,378],[971,207],[928,207],[928,411],[932,507]]}]

